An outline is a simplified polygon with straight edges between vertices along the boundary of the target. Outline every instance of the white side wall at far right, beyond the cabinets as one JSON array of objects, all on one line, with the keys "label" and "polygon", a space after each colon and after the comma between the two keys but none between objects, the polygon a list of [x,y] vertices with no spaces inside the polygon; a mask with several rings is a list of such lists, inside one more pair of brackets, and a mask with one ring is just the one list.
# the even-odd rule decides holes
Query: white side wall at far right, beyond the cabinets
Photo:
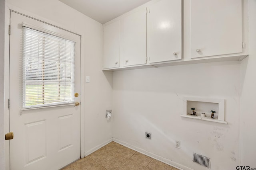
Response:
[{"label": "white side wall at far right, beyond the cabinets", "polygon": [[256,1],[249,0],[249,54],[242,61],[241,166],[256,168]]}]

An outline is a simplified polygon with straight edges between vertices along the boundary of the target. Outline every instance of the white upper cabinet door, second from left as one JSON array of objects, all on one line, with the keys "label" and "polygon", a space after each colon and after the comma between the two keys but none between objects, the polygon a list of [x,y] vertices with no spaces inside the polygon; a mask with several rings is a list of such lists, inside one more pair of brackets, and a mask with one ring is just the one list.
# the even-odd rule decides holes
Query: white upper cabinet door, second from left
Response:
[{"label": "white upper cabinet door, second from left", "polygon": [[146,64],[146,8],[121,20],[120,49],[124,66]]}]

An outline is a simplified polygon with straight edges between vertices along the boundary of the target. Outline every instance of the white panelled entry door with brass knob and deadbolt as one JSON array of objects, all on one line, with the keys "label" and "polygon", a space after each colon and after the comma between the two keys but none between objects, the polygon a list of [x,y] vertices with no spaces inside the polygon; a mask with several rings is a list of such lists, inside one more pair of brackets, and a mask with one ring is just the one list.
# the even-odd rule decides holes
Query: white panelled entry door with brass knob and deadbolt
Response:
[{"label": "white panelled entry door with brass knob and deadbolt", "polygon": [[[48,76],[45,80],[38,80],[38,84],[39,82],[41,84],[34,90],[38,94],[37,100],[42,100],[42,96],[44,96],[43,100],[46,100],[47,95],[54,96],[54,93],[60,95],[60,90],[63,89],[66,90],[64,95],[68,96],[68,92],[70,92],[68,90],[71,86],[75,93],[80,94],[80,36],[11,12],[9,95],[10,131],[14,132],[14,139],[10,140],[10,169],[57,170],[80,158],[80,106],[74,106],[74,102],[80,103],[80,95],[73,97],[74,94],[72,94],[73,101],[69,102],[56,102],[53,104],[45,104],[47,102],[43,102],[38,106],[31,106],[31,108],[29,108],[30,106],[24,106],[24,100],[26,102],[30,100],[28,99],[30,94],[27,94],[26,90],[31,92],[30,84],[24,85],[25,66],[23,59],[24,53],[28,52],[28,49],[24,49],[24,41],[22,40],[24,39],[24,27],[30,27],[31,30],[37,30],[38,33],[40,31],[42,34],[54,35],[55,37],[53,38],[61,37],[65,41],[75,42],[75,51],[73,53],[73,56],[75,56],[73,57],[75,61],[73,66],[75,83],[69,87],[64,85],[64,88],[57,84],[56,86],[58,87],[56,89],[55,85],[51,85],[51,81],[54,81],[56,75]],[[47,37],[44,38],[44,45],[46,46]],[[36,43],[31,45],[30,48],[35,48],[35,45]],[[48,52],[55,53],[61,50],[61,47],[57,50],[54,49],[55,47],[56,45],[44,47],[44,50],[46,50],[43,54],[44,57],[47,57]],[[42,51],[39,50],[38,54],[30,55],[42,55],[39,53],[42,53]],[[43,61],[44,68],[39,68],[39,66],[36,68],[38,70],[45,69],[45,72],[43,70],[44,76],[50,75],[47,71],[56,70],[56,67],[59,73],[63,72],[63,69],[58,67],[63,63],[58,64],[58,61],[52,62],[46,61],[46,59]],[[61,61],[62,58],[59,57],[59,60]],[[39,59],[38,63],[40,63]],[[57,66],[55,67],[53,64]],[[32,65],[29,66],[33,67]],[[52,68],[47,70],[46,67],[50,66]],[[27,74],[28,70],[25,70]],[[65,67],[66,72],[68,72],[67,70],[68,68]],[[58,79],[61,78],[59,77]],[[32,78],[28,78],[26,81],[30,80],[34,81]],[[59,85],[62,84],[59,83]],[[41,89],[42,86],[44,86],[44,90]],[[55,90],[51,90],[51,88],[55,88]]]}]

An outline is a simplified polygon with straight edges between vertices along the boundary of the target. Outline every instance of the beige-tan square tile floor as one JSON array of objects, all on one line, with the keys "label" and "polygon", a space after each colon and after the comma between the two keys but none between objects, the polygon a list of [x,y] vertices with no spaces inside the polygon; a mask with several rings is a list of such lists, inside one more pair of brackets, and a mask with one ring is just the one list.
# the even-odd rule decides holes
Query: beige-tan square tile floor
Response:
[{"label": "beige-tan square tile floor", "polygon": [[111,142],[62,170],[178,170],[135,150]]}]

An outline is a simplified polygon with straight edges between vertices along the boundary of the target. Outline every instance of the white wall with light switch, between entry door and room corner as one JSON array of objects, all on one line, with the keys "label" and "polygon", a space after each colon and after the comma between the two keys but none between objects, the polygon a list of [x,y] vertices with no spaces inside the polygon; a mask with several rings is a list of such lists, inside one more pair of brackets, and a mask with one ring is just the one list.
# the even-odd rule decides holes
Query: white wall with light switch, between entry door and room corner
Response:
[{"label": "white wall with light switch, between entry door and room corner", "polygon": [[101,71],[102,24],[58,0],[7,0],[7,6],[82,35],[82,75],[90,76],[90,83],[82,82],[85,136],[82,147],[88,152],[111,139],[111,123],[106,120],[105,112],[112,107],[112,72]]}]

